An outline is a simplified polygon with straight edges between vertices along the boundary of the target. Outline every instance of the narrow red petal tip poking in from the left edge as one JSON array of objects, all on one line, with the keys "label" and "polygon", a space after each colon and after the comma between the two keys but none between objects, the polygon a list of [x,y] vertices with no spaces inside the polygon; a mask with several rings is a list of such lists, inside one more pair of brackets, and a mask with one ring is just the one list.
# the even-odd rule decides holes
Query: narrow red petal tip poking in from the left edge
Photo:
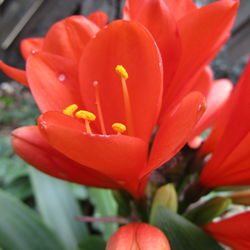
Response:
[{"label": "narrow red petal tip poking in from the left edge", "polygon": [[0,61],[0,69],[13,80],[23,84],[26,87],[29,86],[24,70],[11,67],[2,61]]}]

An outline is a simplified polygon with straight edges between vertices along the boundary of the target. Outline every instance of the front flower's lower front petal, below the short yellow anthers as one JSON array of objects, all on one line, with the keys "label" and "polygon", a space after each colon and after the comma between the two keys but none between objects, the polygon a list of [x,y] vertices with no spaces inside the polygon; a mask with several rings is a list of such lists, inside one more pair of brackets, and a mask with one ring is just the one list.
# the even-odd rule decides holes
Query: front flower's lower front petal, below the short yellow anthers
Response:
[{"label": "front flower's lower front petal, below the short yellow anthers", "polygon": [[41,115],[39,127],[55,149],[117,182],[138,178],[144,168],[147,145],[141,139],[124,135],[87,134],[81,122],[59,112]]}]

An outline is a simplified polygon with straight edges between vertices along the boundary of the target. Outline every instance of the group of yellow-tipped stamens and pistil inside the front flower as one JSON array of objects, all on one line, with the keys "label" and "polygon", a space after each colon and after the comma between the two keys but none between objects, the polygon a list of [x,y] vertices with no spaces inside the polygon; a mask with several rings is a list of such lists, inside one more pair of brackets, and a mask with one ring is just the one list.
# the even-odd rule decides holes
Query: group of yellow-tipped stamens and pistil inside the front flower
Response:
[{"label": "group of yellow-tipped stamens and pistil inside the front flower", "polygon": [[[131,109],[130,97],[129,97],[129,92],[128,92],[127,83],[126,83],[126,80],[128,79],[128,73],[122,65],[117,65],[115,67],[115,71],[121,77],[123,102],[124,102],[126,123],[128,127],[128,134],[134,135],[133,118],[132,118],[132,111],[131,111],[132,109]],[[98,85],[99,85],[98,81],[93,82],[93,87],[95,88],[95,100],[96,100],[95,104],[97,108],[97,115],[99,118],[101,132],[103,135],[107,135],[105,124],[104,124],[104,119],[103,119]],[[79,110],[79,111],[77,110],[78,110],[78,106],[76,104],[71,104],[63,110],[63,113],[71,117],[75,116],[78,119],[83,119],[85,121],[86,133],[92,134],[90,122],[95,121],[96,116],[93,113],[86,111],[86,110]],[[117,135],[121,135],[122,133],[124,133],[127,130],[127,127],[124,124],[118,123],[118,122],[112,124],[112,129],[115,132],[117,132]]]}]

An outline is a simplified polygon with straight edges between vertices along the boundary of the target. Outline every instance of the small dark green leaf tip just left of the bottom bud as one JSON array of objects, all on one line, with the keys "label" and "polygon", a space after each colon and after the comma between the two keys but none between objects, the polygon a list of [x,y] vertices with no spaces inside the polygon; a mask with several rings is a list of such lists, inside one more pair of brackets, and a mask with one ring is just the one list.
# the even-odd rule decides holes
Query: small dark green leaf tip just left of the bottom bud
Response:
[{"label": "small dark green leaf tip just left of the bottom bud", "polygon": [[106,242],[97,235],[89,236],[79,243],[81,250],[105,250]]}]

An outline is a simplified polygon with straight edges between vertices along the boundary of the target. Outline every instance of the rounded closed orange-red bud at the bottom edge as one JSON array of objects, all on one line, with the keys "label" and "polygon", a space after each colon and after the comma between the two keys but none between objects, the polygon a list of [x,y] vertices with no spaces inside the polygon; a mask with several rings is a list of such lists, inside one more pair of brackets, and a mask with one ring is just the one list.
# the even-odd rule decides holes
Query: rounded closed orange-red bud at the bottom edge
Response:
[{"label": "rounded closed orange-red bud at the bottom edge", "polygon": [[109,239],[106,250],[170,250],[164,233],[146,223],[120,227]]}]

